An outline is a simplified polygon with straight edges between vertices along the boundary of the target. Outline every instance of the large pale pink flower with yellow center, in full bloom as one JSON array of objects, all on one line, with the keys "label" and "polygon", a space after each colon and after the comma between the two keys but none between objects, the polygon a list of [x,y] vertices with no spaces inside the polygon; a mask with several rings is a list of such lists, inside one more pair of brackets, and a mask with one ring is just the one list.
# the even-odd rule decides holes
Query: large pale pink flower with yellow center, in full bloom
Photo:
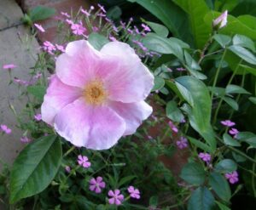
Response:
[{"label": "large pale pink flower with yellow center, in full bloom", "polygon": [[152,113],[144,102],[154,77],[126,43],[100,51],[84,40],[67,44],[56,60],[42,119],[73,145],[105,150],[135,133]]}]

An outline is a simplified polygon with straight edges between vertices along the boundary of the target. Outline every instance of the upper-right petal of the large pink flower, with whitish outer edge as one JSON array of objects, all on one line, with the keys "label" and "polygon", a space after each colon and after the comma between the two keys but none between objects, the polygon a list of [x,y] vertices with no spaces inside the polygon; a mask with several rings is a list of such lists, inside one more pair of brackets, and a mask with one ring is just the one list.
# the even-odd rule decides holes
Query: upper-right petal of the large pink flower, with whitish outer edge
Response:
[{"label": "upper-right petal of the large pink flower, with whitish outer edge", "polygon": [[134,49],[126,43],[111,42],[101,49],[102,54],[114,55],[121,62],[119,71],[109,78],[109,98],[125,103],[145,99],[154,86],[154,77],[143,65]]}]

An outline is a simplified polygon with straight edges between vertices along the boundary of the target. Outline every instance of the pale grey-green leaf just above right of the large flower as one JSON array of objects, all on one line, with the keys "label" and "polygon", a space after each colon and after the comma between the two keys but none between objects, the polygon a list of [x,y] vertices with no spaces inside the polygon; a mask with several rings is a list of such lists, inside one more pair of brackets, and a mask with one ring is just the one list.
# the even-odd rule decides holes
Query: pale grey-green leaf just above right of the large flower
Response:
[{"label": "pale grey-green leaf just above right of the large flower", "polygon": [[150,50],[160,54],[174,54],[179,60],[183,60],[182,47],[172,39],[160,37],[155,33],[148,33],[143,38],[143,44]]}]

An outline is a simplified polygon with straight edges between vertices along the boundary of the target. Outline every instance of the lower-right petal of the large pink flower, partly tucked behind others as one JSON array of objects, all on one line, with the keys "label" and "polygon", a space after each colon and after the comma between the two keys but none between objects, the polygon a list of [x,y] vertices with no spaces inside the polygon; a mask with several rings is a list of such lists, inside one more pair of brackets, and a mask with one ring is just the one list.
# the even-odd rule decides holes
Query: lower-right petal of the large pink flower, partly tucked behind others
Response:
[{"label": "lower-right petal of the large pink flower, partly tucked behind others", "polygon": [[126,128],[124,135],[135,133],[137,128],[152,113],[152,107],[144,101],[124,104],[112,101],[109,106],[125,120]]}]

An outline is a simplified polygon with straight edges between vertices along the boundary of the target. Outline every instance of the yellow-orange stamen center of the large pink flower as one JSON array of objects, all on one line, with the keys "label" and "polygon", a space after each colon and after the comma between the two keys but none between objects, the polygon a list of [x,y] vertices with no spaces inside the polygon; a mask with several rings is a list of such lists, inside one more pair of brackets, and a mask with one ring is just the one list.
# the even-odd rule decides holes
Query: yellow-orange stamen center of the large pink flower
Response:
[{"label": "yellow-orange stamen center of the large pink flower", "polygon": [[107,91],[100,80],[93,80],[84,88],[84,98],[90,105],[102,105],[107,95]]}]

